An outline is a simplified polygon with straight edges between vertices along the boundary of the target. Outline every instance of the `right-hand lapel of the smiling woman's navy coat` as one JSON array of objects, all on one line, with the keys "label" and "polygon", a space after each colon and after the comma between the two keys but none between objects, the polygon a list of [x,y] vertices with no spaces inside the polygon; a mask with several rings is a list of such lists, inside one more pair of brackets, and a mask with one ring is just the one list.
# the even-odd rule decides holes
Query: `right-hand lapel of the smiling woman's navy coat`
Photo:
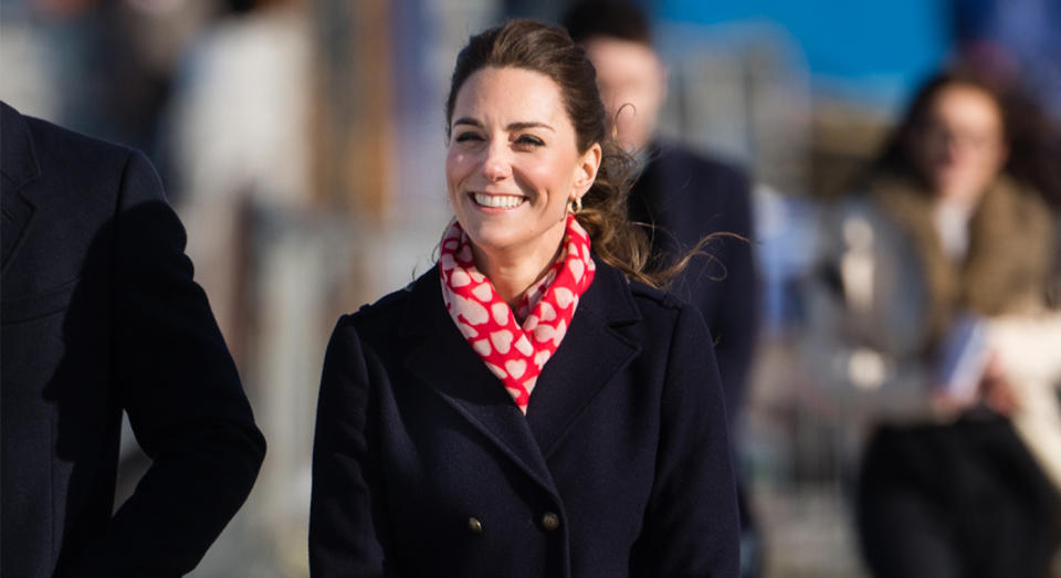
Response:
[{"label": "right-hand lapel of the smiling woman's navy coat", "polygon": [[593,283],[579,299],[571,326],[527,406],[527,421],[546,458],[601,388],[641,353],[616,330],[640,318],[626,277],[598,260]]}]

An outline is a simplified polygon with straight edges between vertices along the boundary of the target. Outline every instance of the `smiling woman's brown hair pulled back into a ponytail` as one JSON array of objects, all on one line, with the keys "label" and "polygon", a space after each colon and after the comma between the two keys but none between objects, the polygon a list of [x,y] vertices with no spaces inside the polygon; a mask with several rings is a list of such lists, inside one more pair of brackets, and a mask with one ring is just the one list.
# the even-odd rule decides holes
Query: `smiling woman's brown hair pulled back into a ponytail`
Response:
[{"label": "smiling woman's brown hair pulled back into a ponytail", "polygon": [[[445,101],[447,137],[458,92],[472,74],[486,67],[524,69],[551,78],[560,88],[567,116],[575,127],[578,150],[585,153],[595,143],[600,144],[597,179],[582,197],[582,209],[576,214],[589,233],[597,256],[627,276],[653,286],[661,286],[680,271],[681,267],[663,272],[645,270],[649,241],[627,212],[635,161],[609,137],[605,105],[597,90],[597,72],[567,31],[519,19],[473,35],[458,54],[450,81],[450,95]],[[687,259],[679,264],[685,261]]]}]

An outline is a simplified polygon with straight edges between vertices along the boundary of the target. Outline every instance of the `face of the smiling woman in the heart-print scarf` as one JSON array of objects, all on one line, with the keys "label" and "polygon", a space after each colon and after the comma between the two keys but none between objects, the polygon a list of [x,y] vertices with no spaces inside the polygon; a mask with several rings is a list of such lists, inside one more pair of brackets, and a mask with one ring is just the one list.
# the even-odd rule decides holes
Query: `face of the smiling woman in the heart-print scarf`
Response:
[{"label": "face of the smiling woman in the heart-print scarf", "polygon": [[483,69],[458,92],[450,134],[450,203],[473,245],[551,255],[568,200],[589,190],[600,164],[598,144],[578,151],[557,84],[523,69]]}]

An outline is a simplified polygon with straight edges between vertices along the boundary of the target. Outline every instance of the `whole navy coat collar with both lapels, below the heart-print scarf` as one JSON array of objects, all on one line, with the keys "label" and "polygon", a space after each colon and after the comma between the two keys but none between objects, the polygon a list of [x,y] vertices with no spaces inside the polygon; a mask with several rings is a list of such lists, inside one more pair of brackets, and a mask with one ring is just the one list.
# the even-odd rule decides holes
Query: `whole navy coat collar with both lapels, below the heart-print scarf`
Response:
[{"label": "whole navy coat collar with both lapels, below the heart-print scarf", "polygon": [[597,260],[593,283],[539,376],[526,416],[453,325],[439,283],[434,266],[409,287],[410,305],[402,320],[410,344],[406,367],[543,487],[556,493],[546,460],[581,410],[641,350],[616,330],[641,319],[626,277]]}]

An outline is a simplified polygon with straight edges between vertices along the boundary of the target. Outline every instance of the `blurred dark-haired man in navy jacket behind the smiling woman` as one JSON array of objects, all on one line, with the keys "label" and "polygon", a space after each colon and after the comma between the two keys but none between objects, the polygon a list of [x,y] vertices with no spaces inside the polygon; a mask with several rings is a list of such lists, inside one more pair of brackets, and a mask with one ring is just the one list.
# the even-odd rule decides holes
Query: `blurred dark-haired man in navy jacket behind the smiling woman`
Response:
[{"label": "blurred dark-haired man in navy jacket behind the smiling woman", "polygon": [[[652,225],[652,266],[673,264],[701,239],[710,256],[692,260],[668,287],[700,309],[715,356],[731,423],[738,423],[755,353],[759,287],[750,239],[752,191],[745,172],[656,135],[666,98],[666,69],[640,8],[616,1],[575,4],[564,17],[597,69],[597,84],[619,143],[643,164],[628,201],[634,222]],[[736,427],[734,428],[736,431]],[[745,576],[758,574],[757,533],[744,492]]]}]

